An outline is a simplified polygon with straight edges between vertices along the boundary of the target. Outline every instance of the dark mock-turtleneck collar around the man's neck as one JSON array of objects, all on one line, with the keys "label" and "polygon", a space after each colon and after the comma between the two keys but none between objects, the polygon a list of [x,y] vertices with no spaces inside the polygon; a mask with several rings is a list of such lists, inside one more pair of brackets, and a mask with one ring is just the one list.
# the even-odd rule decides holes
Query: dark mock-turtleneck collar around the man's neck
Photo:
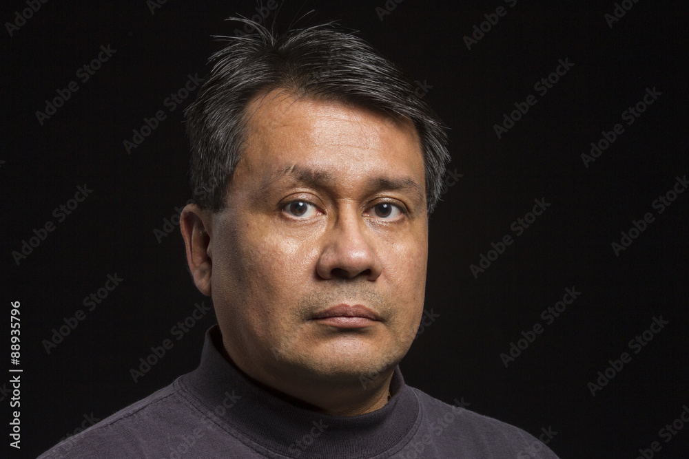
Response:
[{"label": "dark mock-turtleneck collar around the man's neck", "polygon": [[[218,325],[206,332],[198,368],[178,382],[234,431],[268,451],[299,458],[371,458],[403,447],[420,423],[420,405],[404,384],[400,368],[391,382],[391,400],[375,412],[329,416],[296,407],[266,392],[227,362]],[[223,401],[225,404],[223,405]],[[234,403],[234,405],[232,405]],[[216,418],[216,420],[218,420]]]}]

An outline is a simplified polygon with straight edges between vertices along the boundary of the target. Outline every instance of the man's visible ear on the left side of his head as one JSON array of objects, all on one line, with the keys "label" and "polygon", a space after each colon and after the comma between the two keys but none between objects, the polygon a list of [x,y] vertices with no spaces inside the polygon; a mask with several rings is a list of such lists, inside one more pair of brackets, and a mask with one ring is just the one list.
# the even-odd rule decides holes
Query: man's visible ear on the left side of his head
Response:
[{"label": "man's visible ear on the left side of his head", "polygon": [[187,247],[187,264],[194,284],[203,295],[211,296],[211,259],[209,234],[210,211],[196,204],[187,204],[180,215],[179,227]]}]

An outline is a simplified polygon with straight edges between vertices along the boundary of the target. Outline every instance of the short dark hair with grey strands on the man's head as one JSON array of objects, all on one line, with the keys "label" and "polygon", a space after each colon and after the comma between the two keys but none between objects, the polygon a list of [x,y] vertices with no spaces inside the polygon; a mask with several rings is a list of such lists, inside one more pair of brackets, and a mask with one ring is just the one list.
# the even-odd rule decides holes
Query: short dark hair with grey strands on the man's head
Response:
[{"label": "short dark hair with grey strands on the man's head", "polygon": [[225,208],[227,183],[247,138],[247,105],[259,94],[284,89],[298,97],[333,100],[413,122],[426,180],[426,210],[440,199],[450,161],[446,127],[417,86],[366,41],[333,23],[275,36],[256,21],[231,18],[254,28],[245,36],[220,37],[229,44],[209,59],[212,71],[185,110],[192,149],[193,199],[214,212]]}]

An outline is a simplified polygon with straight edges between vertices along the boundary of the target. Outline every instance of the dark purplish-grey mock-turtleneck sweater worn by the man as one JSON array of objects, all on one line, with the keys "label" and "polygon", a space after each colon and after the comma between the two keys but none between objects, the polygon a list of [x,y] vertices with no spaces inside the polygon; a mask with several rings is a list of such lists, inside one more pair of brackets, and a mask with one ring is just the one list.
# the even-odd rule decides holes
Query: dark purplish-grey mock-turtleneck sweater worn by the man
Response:
[{"label": "dark purplish-grey mock-turtleneck sweater worn by the man", "polygon": [[[557,459],[543,442],[517,427],[405,385],[399,368],[387,405],[359,416],[328,416],[266,392],[216,346],[222,346],[217,325],[206,334],[196,370],[39,459]],[[542,439],[547,442],[547,437]]]}]

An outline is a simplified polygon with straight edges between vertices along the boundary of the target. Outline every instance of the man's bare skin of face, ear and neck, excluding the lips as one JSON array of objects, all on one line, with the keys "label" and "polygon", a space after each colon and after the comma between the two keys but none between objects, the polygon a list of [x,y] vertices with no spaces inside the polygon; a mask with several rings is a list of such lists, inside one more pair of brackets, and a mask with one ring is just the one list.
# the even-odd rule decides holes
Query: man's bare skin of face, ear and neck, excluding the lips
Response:
[{"label": "man's bare skin of face, ear and neck, excluding the lips", "polygon": [[[379,409],[423,312],[428,215],[415,128],[280,90],[254,98],[247,113],[225,209],[189,204],[180,225],[225,357],[318,412]],[[314,320],[341,303],[379,320]]]}]

